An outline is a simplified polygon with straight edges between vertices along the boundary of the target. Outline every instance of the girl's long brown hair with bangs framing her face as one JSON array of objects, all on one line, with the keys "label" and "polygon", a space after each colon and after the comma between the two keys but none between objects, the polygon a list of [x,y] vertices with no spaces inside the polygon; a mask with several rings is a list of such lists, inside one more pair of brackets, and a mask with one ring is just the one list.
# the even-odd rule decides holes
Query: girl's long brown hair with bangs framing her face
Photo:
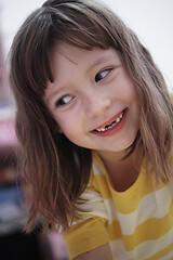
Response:
[{"label": "girl's long brown hair with bangs framing her face", "polygon": [[91,151],[58,132],[43,103],[53,81],[49,52],[55,40],[79,48],[115,48],[121,53],[141,104],[141,126],[132,146],[145,155],[157,179],[172,173],[173,108],[164,79],[134,32],[105,5],[93,0],[49,0],[25,21],[11,49],[11,86],[15,95],[21,174],[31,192],[27,231],[37,214],[45,227],[68,229],[78,214],[76,199],[90,177]]}]

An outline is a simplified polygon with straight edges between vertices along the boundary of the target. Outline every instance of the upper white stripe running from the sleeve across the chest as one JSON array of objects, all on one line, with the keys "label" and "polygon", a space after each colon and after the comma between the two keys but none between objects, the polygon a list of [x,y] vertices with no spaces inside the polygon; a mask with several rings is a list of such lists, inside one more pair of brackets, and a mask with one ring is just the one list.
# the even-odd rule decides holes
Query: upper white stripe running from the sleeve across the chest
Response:
[{"label": "upper white stripe running from the sleeve across the chest", "polygon": [[86,190],[81,198],[85,200],[78,200],[77,206],[88,211],[83,213],[83,218],[97,216],[107,219],[109,224],[118,220],[123,235],[132,235],[137,225],[150,218],[163,218],[169,212],[172,202],[167,186],[144,196],[136,210],[130,214],[118,212],[112,198],[103,199],[97,192]]}]

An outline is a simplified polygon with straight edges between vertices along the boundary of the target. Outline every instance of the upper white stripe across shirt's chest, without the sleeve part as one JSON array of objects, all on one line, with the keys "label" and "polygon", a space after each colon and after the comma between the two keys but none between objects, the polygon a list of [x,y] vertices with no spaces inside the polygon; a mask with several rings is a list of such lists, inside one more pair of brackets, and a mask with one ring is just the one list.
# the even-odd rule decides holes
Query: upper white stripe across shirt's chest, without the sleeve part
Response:
[{"label": "upper white stripe across shirt's chest, without the sleeve part", "polygon": [[144,196],[135,211],[129,214],[118,212],[112,198],[104,199],[108,223],[119,220],[124,235],[133,234],[136,226],[148,219],[163,218],[169,212],[171,203],[173,203],[172,195],[167,186]]}]

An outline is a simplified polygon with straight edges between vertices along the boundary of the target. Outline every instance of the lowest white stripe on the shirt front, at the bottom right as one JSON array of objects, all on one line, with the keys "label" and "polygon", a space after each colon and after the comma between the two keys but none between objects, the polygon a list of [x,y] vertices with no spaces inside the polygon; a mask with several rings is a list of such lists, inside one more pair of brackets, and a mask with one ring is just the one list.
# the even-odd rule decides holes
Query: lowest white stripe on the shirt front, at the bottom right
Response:
[{"label": "lowest white stripe on the shirt front, at the bottom right", "polygon": [[[147,240],[141,243],[132,251],[125,251],[123,243],[120,239],[110,242],[110,249],[114,256],[114,259],[121,260],[144,260],[152,257],[155,253],[163,250],[173,243],[173,229],[171,229],[164,236],[156,240]],[[170,260],[169,257],[173,256],[173,251],[167,255],[159,260]]]}]

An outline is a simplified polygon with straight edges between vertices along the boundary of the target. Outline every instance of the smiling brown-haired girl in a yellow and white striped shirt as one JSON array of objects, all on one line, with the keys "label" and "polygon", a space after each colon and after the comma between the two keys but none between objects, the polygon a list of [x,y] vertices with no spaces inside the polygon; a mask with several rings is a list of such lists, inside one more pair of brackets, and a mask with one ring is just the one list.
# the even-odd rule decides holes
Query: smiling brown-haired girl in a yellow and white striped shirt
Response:
[{"label": "smiling brown-haired girl in a yellow and white striped shirt", "polygon": [[49,0],[11,50],[21,173],[70,259],[173,258],[173,108],[149,52],[91,0]]}]

